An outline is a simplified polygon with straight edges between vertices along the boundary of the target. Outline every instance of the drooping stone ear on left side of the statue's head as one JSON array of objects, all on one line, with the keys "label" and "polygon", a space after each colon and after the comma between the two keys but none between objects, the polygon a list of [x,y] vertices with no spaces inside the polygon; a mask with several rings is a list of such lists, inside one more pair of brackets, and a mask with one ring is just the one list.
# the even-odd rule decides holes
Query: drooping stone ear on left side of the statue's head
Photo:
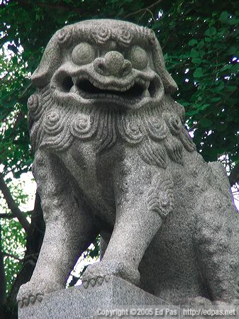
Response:
[{"label": "drooping stone ear on left side of the statue's head", "polygon": [[53,36],[45,48],[40,65],[38,65],[38,68],[35,69],[35,72],[31,76],[33,85],[37,87],[46,86],[57,67],[59,67],[61,59],[59,45],[57,45]]}]

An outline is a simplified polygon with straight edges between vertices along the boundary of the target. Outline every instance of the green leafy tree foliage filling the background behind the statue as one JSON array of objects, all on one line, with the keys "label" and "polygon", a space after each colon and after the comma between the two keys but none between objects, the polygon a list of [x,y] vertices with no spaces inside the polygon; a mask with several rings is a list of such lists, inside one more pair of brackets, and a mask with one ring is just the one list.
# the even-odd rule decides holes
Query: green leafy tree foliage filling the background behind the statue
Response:
[{"label": "green leafy tree foliage filling the background behind the statue", "polygon": [[[238,4],[230,0],[0,1],[0,279],[4,254],[7,306],[18,286],[30,278],[44,233],[38,196],[33,211],[21,211],[27,198],[15,179],[28,172],[33,161],[26,101],[34,91],[30,74],[51,36],[66,24],[91,18],[118,18],[155,30],[167,69],[179,86],[174,99],[186,109],[187,126],[199,152],[207,161],[224,155],[230,182],[235,184],[239,180]],[[24,258],[19,247],[26,247]]]}]

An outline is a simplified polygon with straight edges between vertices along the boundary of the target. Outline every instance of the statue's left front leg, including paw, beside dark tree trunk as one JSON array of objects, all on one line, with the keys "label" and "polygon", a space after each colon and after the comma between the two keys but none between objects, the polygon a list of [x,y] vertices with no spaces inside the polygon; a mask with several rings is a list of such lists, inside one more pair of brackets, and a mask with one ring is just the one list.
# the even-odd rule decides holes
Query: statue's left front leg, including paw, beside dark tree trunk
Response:
[{"label": "statue's left front leg, including paw, beside dark tree trunk", "polygon": [[18,292],[20,307],[41,301],[45,293],[65,288],[77,258],[98,233],[89,208],[81,198],[75,198],[60,161],[38,150],[33,167],[43,208],[45,236],[33,276]]}]

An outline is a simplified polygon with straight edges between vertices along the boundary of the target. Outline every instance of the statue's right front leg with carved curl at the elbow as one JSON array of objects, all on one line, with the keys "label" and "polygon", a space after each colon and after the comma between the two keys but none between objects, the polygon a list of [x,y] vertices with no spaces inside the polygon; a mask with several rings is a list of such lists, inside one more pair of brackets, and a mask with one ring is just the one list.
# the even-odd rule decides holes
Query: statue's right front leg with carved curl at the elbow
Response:
[{"label": "statue's right front leg with carved curl at the elbow", "polygon": [[85,286],[107,275],[139,284],[138,266],[163,218],[172,210],[173,184],[166,172],[122,167],[115,174],[116,222],[101,262],[84,273]]}]

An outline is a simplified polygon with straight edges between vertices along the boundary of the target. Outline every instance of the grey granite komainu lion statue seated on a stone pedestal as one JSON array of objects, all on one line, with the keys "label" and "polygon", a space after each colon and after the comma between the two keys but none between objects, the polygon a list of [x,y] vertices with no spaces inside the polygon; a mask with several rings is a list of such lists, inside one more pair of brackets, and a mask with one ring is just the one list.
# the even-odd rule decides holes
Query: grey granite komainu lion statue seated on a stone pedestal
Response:
[{"label": "grey granite komainu lion statue seated on a stone pedestal", "polygon": [[152,30],[91,20],[65,26],[32,76],[30,139],[46,230],[19,306],[65,287],[98,234],[85,288],[119,276],[174,304],[238,304],[238,211],[206,163]]}]

